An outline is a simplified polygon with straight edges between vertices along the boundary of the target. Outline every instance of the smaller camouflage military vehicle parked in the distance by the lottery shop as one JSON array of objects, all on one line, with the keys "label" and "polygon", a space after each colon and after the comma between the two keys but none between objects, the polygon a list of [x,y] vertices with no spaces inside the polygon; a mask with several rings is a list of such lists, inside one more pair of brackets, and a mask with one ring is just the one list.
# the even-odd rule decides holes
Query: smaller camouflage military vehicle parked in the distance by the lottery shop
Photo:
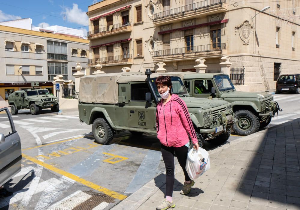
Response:
[{"label": "smaller camouflage military vehicle parked in the distance by the lottery shop", "polygon": [[51,108],[52,112],[59,111],[59,100],[50,95],[47,89],[18,90],[8,96],[11,114],[16,115],[20,109],[29,109],[32,115],[39,110]]}]

